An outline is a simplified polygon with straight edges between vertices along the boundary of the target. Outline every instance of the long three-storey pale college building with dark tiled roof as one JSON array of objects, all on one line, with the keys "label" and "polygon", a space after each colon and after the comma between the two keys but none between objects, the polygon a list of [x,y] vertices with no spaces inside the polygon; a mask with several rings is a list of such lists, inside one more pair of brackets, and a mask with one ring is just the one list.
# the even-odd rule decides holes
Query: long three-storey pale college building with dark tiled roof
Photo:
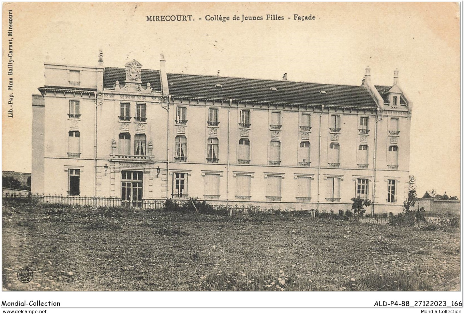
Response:
[{"label": "long three-storey pale college building with dark tiled roof", "polygon": [[[198,197],[262,207],[398,212],[412,103],[360,86],[45,63],[32,96],[32,192]],[[369,212],[369,210],[368,210]]]}]

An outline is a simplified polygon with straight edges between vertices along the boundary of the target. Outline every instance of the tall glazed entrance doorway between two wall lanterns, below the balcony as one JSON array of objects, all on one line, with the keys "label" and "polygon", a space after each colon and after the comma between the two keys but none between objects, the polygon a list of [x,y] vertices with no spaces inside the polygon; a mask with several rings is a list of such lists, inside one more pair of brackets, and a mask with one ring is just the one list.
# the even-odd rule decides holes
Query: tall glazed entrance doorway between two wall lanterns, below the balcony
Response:
[{"label": "tall glazed entrance doorway between two wall lanterns, below the balcony", "polygon": [[128,171],[121,172],[121,199],[122,205],[141,207],[143,190],[143,172]]}]

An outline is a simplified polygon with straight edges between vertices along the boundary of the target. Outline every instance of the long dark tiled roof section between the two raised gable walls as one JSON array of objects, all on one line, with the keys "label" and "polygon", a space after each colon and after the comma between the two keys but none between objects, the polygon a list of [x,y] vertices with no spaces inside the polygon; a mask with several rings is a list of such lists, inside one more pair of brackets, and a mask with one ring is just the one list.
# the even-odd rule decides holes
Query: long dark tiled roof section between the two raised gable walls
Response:
[{"label": "long dark tiled roof section between the two raised gable walls", "polygon": [[[173,73],[167,75],[169,94],[178,97],[233,99],[257,103],[376,107],[374,99],[364,86]],[[217,84],[220,84],[220,87]]]}]

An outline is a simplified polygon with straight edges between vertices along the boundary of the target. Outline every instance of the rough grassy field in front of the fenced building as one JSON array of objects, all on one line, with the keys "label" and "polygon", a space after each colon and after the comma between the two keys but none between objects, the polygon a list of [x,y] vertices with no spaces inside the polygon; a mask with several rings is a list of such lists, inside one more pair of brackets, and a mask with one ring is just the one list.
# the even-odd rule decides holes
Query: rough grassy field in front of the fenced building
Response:
[{"label": "rough grassy field in front of the fenced building", "polygon": [[459,290],[459,229],[19,202],[2,226],[6,290]]}]

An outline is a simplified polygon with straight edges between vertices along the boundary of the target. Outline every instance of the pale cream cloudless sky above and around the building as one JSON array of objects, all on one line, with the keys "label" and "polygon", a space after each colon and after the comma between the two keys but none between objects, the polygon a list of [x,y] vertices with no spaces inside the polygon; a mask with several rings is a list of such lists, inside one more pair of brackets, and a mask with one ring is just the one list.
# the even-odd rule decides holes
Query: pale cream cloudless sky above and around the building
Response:
[{"label": "pale cream cloudless sky above and around the building", "polygon": [[[31,94],[44,62],[123,67],[136,59],[168,72],[400,86],[413,103],[410,173],[417,191],[460,199],[460,8],[458,3],[3,3],[2,89],[8,10],[13,10],[13,118],[3,93],[2,169],[31,172]],[[192,15],[149,22],[147,15]],[[228,16],[226,22],[206,15]],[[241,21],[241,16],[263,20]],[[266,20],[266,14],[283,20]],[[295,20],[299,16],[316,17]],[[240,20],[233,20],[234,15]],[[290,17],[290,19],[288,19]]]}]

